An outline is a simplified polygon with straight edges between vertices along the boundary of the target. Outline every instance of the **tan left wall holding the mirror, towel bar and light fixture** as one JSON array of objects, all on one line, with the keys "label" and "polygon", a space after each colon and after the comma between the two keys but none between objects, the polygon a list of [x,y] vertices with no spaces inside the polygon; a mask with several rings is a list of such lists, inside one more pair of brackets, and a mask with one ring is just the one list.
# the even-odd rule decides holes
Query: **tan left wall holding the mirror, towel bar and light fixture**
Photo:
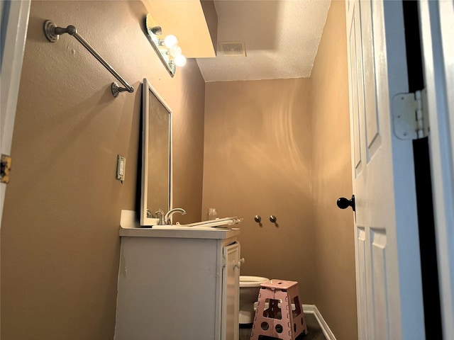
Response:
[{"label": "tan left wall holding the mirror, towel bar and light fixture", "polygon": [[[200,217],[204,80],[194,60],[170,77],[145,13],[140,1],[31,3],[1,224],[1,339],[113,339],[120,213],[140,200],[143,78],[173,110],[175,206]],[[76,26],[134,93],[114,98],[116,79],[70,35],[48,42],[45,19]]]}]

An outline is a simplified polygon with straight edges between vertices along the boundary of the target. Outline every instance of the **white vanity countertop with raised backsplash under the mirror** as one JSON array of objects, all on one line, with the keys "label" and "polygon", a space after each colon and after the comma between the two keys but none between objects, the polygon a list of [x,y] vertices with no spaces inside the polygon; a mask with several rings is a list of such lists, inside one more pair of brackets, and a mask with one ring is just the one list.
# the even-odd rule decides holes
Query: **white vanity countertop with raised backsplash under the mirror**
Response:
[{"label": "white vanity countertop with raised backsplash under the mirror", "polygon": [[121,237],[177,237],[191,239],[228,239],[240,234],[238,227],[184,227],[178,225],[157,225],[140,227],[135,211],[121,210]]}]

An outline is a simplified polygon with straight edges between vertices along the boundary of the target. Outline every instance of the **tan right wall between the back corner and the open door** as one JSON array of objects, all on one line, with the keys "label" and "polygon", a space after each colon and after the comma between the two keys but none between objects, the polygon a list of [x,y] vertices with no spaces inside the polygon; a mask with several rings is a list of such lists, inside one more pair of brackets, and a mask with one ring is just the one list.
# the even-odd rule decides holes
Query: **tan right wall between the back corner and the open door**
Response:
[{"label": "tan right wall between the back corner and the open door", "polygon": [[331,1],[311,73],[314,300],[338,340],[358,339],[344,1]]}]

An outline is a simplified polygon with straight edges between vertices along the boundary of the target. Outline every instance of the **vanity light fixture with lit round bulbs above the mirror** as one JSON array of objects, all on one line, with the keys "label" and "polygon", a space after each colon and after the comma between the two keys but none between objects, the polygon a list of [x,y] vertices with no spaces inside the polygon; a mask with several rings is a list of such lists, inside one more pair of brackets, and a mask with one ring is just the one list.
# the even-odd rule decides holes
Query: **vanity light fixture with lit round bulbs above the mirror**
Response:
[{"label": "vanity light fixture with lit round bulbs above the mirror", "polygon": [[162,37],[162,28],[157,26],[150,13],[145,16],[145,30],[148,40],[150,40],[160,60],[173,77],[176,67],[183,67],[186,64],[186,57],[182,55],[182,49],[178,46],[177,37],[175,35]]}]

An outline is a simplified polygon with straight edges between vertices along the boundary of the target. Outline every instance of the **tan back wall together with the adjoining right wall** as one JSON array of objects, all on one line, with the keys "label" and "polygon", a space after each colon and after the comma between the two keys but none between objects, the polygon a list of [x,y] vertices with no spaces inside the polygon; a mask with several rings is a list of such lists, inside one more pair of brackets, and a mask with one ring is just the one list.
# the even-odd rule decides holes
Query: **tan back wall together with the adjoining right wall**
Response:
[{"label": "tan back wall together with the adjoining right wall", "polygon": [[206,84],[202,203],[244,217],[241,275],[298,280],[338,340],[358,339],[344,6],[309,79]]}]

